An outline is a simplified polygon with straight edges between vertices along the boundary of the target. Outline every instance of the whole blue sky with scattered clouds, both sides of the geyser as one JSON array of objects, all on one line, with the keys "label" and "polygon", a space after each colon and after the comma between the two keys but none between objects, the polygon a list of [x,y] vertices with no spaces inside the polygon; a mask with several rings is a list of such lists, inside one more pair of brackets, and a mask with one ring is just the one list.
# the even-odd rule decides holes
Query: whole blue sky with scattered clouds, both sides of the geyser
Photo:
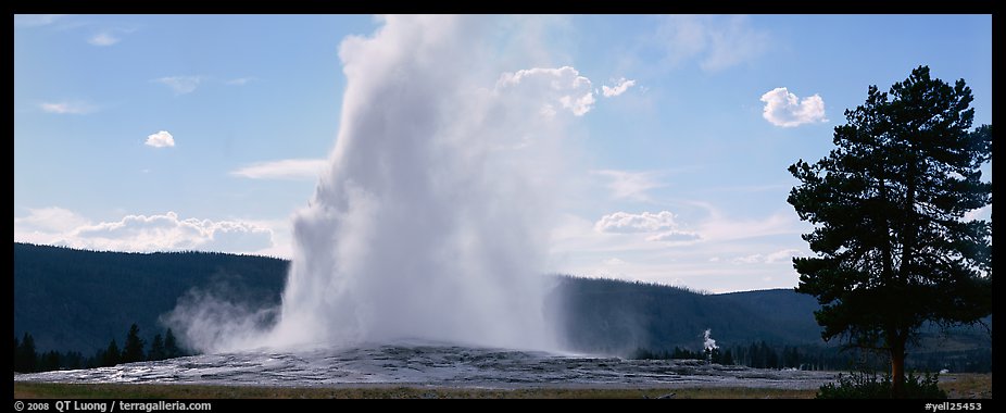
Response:
[{"label": "whole blue sky with scattered clouds, both sides of the geyser", "polygon": [[[567,130],[562,179],[576,190],[556,205],[543,272],[793,287],[808,226],[785,202],[785,168],[825,155],[869,85],[926,64],[967,80],[976,125],[992,118],[990,15],[501,21],[514,29],[490,46],[495,76],[568,66],[590,80]],[[291,256],[290,217],[339,132],[340,43],[380,25],[15,16],[14,240]]]}]

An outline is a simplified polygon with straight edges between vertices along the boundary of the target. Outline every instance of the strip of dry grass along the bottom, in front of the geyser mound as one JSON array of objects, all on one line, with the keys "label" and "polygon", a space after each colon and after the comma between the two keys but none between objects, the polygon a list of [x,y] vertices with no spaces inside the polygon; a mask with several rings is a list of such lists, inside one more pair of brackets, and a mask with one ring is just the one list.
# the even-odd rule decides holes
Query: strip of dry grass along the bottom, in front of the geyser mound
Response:
[{"label": "strip of dry grass along the bottom, in front of the geyser mound", "polygon": [[[951,398],[992,398],[991,374],[947,374],[940,387]],[[747,387],[526,388],[254,387],[168,384],[59,384],[14,381],[14,399],[812,399],[817,390]]]}]

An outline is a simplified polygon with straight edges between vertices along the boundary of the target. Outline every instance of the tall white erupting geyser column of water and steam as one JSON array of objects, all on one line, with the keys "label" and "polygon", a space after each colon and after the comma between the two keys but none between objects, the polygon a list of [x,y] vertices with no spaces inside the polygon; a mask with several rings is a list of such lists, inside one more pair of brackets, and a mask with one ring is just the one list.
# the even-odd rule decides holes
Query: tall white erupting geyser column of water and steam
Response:
[{"label": "tall white erupting geyser column of water and steam", "polygon": [[495,50],[508,46],[490,17],[380,18],[372,37],[341,43],[339,135],[293,218],[278,321],[189,328],[196,347],[554,347],[542,312],[548,223],[562,125],[590,110],[590,82],[573,67],[500,70]]}]

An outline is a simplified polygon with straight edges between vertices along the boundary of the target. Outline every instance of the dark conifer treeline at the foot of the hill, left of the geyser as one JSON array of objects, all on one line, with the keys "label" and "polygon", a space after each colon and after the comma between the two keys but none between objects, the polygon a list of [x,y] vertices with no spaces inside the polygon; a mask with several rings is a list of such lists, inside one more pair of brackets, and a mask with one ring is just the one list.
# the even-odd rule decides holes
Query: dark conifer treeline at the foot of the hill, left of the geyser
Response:
[{"label": "dark conifer treeline at the foot of the hill, left of the geyser", "polygon": [[178,345],[171,328],[163,336],[160,333],[154,335],[148,347],[146,340],[140,338],[139,327],[133,324],[122,342],[120,347],[118,341],[113,338],[108,347],[99,349],[93,355],[85,356],[79,351],[41,351],[35,347],[35,338],[32,334],[25,333],[21,340],[14,337],[14,372],[35,373],[106,367],[121,363],[166,360],[188,354]]}]

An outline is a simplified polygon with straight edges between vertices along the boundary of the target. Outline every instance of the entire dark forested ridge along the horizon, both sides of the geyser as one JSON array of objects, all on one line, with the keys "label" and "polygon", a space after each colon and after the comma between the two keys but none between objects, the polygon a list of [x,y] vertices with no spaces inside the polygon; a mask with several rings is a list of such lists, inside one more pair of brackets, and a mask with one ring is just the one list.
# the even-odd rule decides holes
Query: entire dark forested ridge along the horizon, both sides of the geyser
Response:
[{"label": "entire dark forested ridge along the horizon, both sides of the geyser", "polygon": [[[251,306],[278,304],[288,265],[252,255],[95,252],[15,242],[14,336],[30,333],[40,350],[91,354],[113,338],[122,341],[136,323],[150,342],[164,333],[159,317],[193,289]],[[613,279],[555,276],[554,283],[546,316],[557,322],[571,350],[696,351],[705,329],[725,348],[762,341],[780,349],[822,345],[813,314],[817,302],[792,289],[706,295]],[[991,356],[986,334],[959,333],[931,347],[978,348]]]}]

